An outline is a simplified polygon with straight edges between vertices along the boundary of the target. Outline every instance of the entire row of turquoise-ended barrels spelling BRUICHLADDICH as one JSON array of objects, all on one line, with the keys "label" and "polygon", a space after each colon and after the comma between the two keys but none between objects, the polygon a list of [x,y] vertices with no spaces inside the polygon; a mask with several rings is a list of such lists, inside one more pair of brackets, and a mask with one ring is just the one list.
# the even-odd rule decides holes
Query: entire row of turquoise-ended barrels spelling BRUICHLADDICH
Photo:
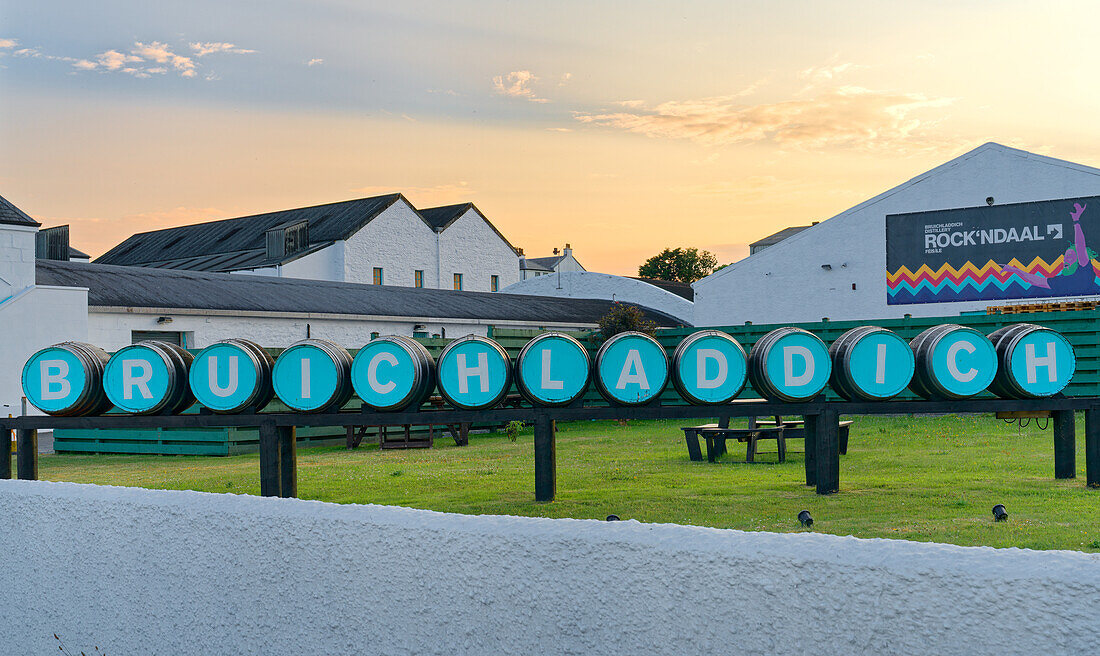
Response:
[{"label": "entire row of turquoise-ended barrels spelling BRUICHLADDICH", "polygon": [[689,403],[728,403],[746,384],[761,396],[796,403],[832,385],[848,401],[886,401],[911,390],[930,400],[961,400],[986,390],[1005,398],[1060,392],[1076,370],[1069,341],[1042,326],[1018,324],[985,336],[943,325],[911,342],[861,326],[832,346],[799,328],[761,337],[746,354],[736,339],[701,330],[671,359],[652,337],[623,332],[591,358],[560,332],[528,342],[515,363],[495,341],[468,336],[437,362],[406,337],[371,340],[353,358],[323,339],[306,339],[273,359],[245,339],[213,343],[193,356],[162,341],[143,341],[108,356],[65,342],[32,356],[23,369],[28,400],[45,413],[89,416],[112,406],[132,414],[177,414],[198,402],[215,413],[258,412],[278,397],[296,412],[326,413],[352,395],[377,411],[417,408],[438,389],[454,407],[494,407],[513,384],[532,404],[569,405],[590,384],[610,403],[653,401],[671,381]]}]

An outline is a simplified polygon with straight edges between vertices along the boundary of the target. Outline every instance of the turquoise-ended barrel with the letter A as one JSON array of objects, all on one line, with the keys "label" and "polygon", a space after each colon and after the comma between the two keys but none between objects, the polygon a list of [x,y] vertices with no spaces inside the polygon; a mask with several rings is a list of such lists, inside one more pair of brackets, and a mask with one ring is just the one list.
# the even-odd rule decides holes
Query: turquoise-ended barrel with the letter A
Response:
[{"label": "turquoise-ended barrel with the letter A", "polygon": [[644,332],[619,332],[596,352],[596,389],[618,405],[644,405],[669,383],[669,356]]}]

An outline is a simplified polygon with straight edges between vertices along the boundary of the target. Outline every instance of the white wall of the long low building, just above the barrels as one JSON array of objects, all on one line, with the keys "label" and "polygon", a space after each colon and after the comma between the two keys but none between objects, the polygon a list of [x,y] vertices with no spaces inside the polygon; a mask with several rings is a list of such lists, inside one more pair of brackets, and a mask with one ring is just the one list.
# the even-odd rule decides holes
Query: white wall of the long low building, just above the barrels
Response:
[{"label": "white wall of the long low building, just above the barrels", "polygon": [[[170,324],[157,324],[160,317],[172,317]],[[417,324],[425,326],[428,335],[446,330],[448,338],[464,335],[486,336],[488,327],[538,328],[544,326],[561,330],[594,328],[594,324],[534,324],[527,321],[498,321],[492,319],[446,319],[406,317],[365,317],[358,315],[241,313],[211,310],[179,310],[170,308],[101,308],[91,307],[87,316],[88,340],[108,351],[118,350],[132,341],[134,330],[177,330],[188,334],[188,348],[201,349],[230,338],[251,339],[263,347],[288,347],[309,336],[330,339],[345,348],[359,348],[371,339],[371,332],[381,335],[413,335]],[[48,342],[53,343],[53,342]],[[22,363],[20,363],[22,367]]]}]

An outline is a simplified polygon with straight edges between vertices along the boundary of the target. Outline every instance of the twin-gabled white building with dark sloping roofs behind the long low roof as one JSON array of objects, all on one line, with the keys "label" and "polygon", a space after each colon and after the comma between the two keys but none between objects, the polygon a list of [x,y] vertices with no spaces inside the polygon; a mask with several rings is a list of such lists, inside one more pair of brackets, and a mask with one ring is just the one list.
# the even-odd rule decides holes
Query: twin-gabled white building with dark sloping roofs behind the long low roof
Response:
[{"label": "twin-gabled white building with dark sloping roofs behind the long low roof", "polygon": [[418,210],[400,194],[134,234],[98,264],[496,292],[519,251],[472,203]]}]

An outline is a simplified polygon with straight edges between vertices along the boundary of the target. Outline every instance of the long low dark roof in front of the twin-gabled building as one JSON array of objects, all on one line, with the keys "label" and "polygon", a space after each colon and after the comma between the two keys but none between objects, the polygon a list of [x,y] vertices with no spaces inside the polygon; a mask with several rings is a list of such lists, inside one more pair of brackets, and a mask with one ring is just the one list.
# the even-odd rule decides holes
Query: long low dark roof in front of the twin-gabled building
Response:
[{"label": "long low dark roof in front of the twin-gabled building", "polygon": [[[324,313],[595,324],[612,302],[488,292],[360,285],[263,275],[37,262],[37,283],[87,287],[94,307]],[[659,326],[682,321],[642,308]]]}]

